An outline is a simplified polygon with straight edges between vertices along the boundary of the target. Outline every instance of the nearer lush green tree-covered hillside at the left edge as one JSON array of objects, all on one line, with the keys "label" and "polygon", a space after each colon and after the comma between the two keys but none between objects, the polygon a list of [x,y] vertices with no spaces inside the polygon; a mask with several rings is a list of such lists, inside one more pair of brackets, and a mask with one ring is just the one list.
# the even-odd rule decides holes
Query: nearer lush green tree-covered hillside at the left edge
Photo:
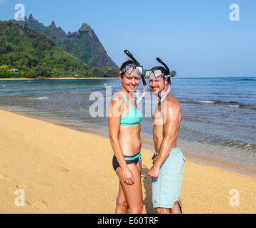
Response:
[{"label": "nearer lush green tree-covered hillside at the left edge", "polygon": [[[14,68],[19,72],[10,72]],[[86,63],[61,50],[49,36],[12,21],[0,21],[0,76],[90,74]]]}]

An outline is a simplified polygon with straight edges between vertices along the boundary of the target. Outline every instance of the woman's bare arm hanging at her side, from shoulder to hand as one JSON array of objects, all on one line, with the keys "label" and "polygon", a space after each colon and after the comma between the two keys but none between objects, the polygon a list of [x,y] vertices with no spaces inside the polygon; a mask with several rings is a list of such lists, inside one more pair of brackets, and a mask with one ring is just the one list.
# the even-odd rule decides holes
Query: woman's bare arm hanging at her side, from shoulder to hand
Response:
[{"label": "woman's bare arm hanging at her side, from shoulder to hand", "polygon": [[109,138],[114,151],[114,155],[119,163],[124,183],[132,185],[134,183],[134,178],[131,170],[124,160],[124,155],[119,142],[119,131],[120,131],[120,120],[122,115],[122,98],[115,96],[109,105]]}]

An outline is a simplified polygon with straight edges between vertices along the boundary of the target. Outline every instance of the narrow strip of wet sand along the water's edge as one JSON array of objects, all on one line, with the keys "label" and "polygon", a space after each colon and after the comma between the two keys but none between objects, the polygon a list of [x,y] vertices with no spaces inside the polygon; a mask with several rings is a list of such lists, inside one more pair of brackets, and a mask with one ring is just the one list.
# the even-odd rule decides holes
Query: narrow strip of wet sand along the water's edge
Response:
[{"label": "narrow strip of wet sand along the water's edge", "polygon": [[[109,136],[106,135],[106,133],[104,133],[104,132],[101,133],[101,132],[99,132],[99,130],[97,130],[95,128],[87,128],[87,130],[81,130],[77,126],[74,126],[74,125],[69,124],[69,123],[65,123],[61,120],[41,118],[39,116],[31,115],[29,113],[23,113],[20,110],[15,110],[15,109],[10,109],[10,108],[3,108],[1,106],[0,106],[0,110],[5,110],[7,112],[15,113],[15,114],[18,114],[18,115],[24,115],[26,117],[34,118],[34,119],[37,119],[37,120],[42,120],[42,121],[45,121],[46,123],[52,123],[54,125],[62,126],[64,128],[69,128],[69,129],[72,129],[72,130],[77,130],[77,131],[82,132],[82,133],[90,133],[90,134],[98,135],[100,137],[107,138],[109,140]],[[152,152],[154,152],[154,144],[153,144],[153,142],[149,142],[148,140],[142,140],[142,148],[144,148],[146,150],[151,150]],[[190,154],[187,151],[182,151],[182,152],[183,152],[184,156],[187,159],[192,160],[195,163],[202,164],[202,165],[212,165],[212,166],[215,166],[215,167],[220,167],[220,168],[225,169],[225,170],[230,170],[230,171],[237,172],[237,173],[244,174],[244,175],[248,175],[248,176],[251,176],[251,177],[256,177],[256,171],[255,170],[246,169],[245,167],[239,167],[237,165],[228,164],[228,163],[221,162],[221,161],[218,161],[218,160],[213,161],[213,160],[210,160],[210,158],[207,158],[207,157],[195,156],[195,155]]]}]

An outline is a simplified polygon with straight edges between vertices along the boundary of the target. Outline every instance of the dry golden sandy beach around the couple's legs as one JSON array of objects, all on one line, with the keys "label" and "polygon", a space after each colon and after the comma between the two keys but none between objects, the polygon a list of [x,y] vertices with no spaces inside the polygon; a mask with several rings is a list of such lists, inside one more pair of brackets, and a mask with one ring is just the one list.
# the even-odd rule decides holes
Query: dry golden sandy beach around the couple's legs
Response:
[{"label": "dry golden sandy beach around the couple's legs", "polygon": [[[5,110],[0,138],[0,213],[114,213],[119,180],[107,138]],[[155,213],[152,155],[142,149],[143,213]],[[256,177],[187,159],[180,199],[184,213],[256,213]]]}]

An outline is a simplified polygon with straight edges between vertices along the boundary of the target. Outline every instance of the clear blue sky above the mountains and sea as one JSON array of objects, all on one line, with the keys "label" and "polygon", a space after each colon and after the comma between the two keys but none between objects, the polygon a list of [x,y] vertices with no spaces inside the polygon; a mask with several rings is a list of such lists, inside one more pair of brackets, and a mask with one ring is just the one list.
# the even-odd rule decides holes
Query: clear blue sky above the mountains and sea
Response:
[{"label": "clear blue sky above the mountains and sea", "polygon": [[[240,21],[230,21],[230,4]],[[144,68],[159,65],[178,76],[256,76],[255,0],[0,0],[0,20],[25,14],[64,31],[89,24],[118,66],[131,51]]]}]

